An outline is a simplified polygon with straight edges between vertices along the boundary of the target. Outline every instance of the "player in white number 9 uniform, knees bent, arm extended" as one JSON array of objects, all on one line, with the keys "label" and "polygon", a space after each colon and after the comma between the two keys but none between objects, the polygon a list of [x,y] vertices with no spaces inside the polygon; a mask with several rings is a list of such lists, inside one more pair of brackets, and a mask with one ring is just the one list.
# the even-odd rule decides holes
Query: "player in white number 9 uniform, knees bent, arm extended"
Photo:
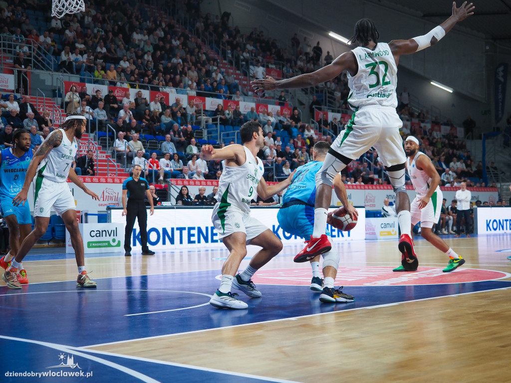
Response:
[{"label": "player in white number 9 uniform, knees bent, arm extended", "polygon": [[[213,306],[220,308],[248,308],[245,302],[234,297],[237,294],[230,292],[231,286],[249,297],[261,297],[251,277],[282,250],[282,242],[265,225],[250,217],[250,201],[258,195],[266,200],[281,192],[291,184],[294,175],[293,172],[286,180],[268,186],[263,178],[263,161],[257,157],[259,150],[264,147],[261,124],[254,121],[243,124],[240,137],[243,145],[229,145],[222,149],[214,149],[211,145],[202,146],[206,161],[225,160],[224,172],[215,196],[218,202],[211,217],[219,238],[230,252],[222,267],[220,288],[210,300]],[[262,249],[255,253],[242,273],[236,274],[242,259],[247,255],[248,244]]]}]

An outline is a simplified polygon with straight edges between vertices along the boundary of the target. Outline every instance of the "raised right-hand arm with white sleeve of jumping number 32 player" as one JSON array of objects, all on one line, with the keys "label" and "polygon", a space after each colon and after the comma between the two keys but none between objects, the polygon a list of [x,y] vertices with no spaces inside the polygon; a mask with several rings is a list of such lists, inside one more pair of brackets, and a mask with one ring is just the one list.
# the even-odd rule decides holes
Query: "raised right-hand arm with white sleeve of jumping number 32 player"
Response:
[{"label": "raised right-hand arm with white sleeve of jumping number 32 player", "polygon": [[464,2],[461,7],[456,8],[456,3],[452,3],[452,15],[439,26],[433,28],[423,36],[417,36],[409,40],[392,40],[389,42],[390,50],[394,57],[400,55],[410,55],[419,52],[428,46],[436,44],[442,37],[449,32],[454,25],[461,20],[474,14],[475,7],[472,3]]}]

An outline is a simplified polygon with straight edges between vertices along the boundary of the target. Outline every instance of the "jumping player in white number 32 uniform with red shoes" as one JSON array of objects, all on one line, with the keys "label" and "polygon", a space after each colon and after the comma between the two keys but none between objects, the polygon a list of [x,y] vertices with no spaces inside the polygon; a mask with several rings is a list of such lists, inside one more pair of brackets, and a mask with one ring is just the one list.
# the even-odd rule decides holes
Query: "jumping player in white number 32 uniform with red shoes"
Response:
[{"label": "jumping player in white number 32 uniform with red shoes", "polygon": [[339,76],[347,70],[350,95],[348,103],[354,110],[351,121],[337,136],[332,148],[316,175],[316,200],[314,231],[307,246],[298,258],[310,257],[330,251],[331,244],[324,234],[327,225],[327,208],[332,198],[332,180],[352,160],[374,147],[380,155],[396,193],[396,212],[401,229],[399,250],[405,269],[418,264],[411,238],[410,200],[405,189],[405,153],[399,129],[402,126],[396,107],[398,63],[401,55],[412,54],[435,44],[454,25],[473,14],[472,3],[464,2],[460,8],[453,3],[452,16],[426,35],[409,40],[378,42],[379,33],[370,19],[361,19],[355,25],[350,41],[359,46],[343,53],[331,64],[314,73],[291,79],[275,81],[267,76],[251,82],[255,92],[264,90],[305,88]]}]

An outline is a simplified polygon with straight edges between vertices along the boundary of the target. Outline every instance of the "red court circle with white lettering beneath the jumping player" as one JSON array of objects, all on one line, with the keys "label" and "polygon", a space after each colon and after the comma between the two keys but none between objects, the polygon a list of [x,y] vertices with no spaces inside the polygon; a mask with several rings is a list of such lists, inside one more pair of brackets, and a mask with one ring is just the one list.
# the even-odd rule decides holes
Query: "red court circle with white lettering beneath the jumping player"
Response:
[{"label": "red court circle with white lettering beneath the jumping player", "polygon": [[[443,273],[444,268],[419,267],[415,272],[393,272],[386,266],[339,267],[336,285],[343,286],[399,286],[420,284],[468,283],[511,277],[511,274],[483,269],[460,268]],[[255,284],[305,286],[311,283],[310,268],[259,270],[252,277]]]}]

